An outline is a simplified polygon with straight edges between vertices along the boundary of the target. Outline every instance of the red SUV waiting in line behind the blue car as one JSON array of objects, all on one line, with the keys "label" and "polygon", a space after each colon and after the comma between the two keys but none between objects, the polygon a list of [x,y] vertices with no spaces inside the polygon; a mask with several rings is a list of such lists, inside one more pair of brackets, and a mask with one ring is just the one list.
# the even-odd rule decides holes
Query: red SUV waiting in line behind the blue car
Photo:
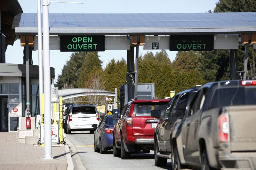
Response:
[{"label": "red SUV waiting in line behind the blue car", "polygon": [[126,103],[120,114],[112,115],[119,119],[113,129],[113,154],[129,159],[133,151],[149,153],[154,150],[154,131],[159,121],[151,117],[151,110],[166,110],[168,100],[131,100]]}]

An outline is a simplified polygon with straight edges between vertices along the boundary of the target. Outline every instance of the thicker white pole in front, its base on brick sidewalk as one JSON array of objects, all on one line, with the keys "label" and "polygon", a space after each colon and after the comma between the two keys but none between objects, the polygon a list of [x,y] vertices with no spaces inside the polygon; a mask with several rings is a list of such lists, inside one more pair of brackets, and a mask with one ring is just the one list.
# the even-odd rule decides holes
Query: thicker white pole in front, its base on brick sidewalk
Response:
[{"label": "thicker white pole in front, its base on brick sidewalk", "polygon": [[43,0],[43,45],[44,45],[44,157],[52,157],[52,121],[51,121],[51,75],[48,0]]}]

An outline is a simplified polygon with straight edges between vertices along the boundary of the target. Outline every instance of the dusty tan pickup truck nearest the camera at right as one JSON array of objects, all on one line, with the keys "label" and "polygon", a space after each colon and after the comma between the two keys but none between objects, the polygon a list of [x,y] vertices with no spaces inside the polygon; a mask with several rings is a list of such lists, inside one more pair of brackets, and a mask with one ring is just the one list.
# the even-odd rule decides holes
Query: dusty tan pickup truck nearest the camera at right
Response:
[{"label": "dusty tan pickup truck nearest the camera at right", "polygon": [[188,106],[180,139],[172,138],[174,168],[256,168],[256,80],[202,86]]}]

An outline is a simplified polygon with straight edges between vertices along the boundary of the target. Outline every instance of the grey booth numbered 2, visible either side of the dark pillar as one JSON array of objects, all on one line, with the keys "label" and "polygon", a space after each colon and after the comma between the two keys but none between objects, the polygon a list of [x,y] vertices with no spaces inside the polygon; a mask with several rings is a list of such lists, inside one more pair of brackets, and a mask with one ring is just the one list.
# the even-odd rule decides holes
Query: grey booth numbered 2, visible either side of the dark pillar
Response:
[{"label": "grey booth numbered 2, visible either side of the dark pillar", "polygon": [[[155,84],[154,83],[139,83],[137,88],[137,99],[153,99],[155,98]],[[120,86],[120,110],[128,102],[128,85]]]}]

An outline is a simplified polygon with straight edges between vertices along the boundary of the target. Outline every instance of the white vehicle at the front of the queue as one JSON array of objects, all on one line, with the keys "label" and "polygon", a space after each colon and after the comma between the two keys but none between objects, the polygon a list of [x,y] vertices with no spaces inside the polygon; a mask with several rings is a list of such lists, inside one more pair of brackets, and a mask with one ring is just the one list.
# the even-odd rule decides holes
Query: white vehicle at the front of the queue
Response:
[{"label": "white vehicle at the front of the queue", "polygon": [[63,128],[72,131],[89,130],[93,133],[99,125],[99,114],[94,105],[71,105],[64,112]]}]

